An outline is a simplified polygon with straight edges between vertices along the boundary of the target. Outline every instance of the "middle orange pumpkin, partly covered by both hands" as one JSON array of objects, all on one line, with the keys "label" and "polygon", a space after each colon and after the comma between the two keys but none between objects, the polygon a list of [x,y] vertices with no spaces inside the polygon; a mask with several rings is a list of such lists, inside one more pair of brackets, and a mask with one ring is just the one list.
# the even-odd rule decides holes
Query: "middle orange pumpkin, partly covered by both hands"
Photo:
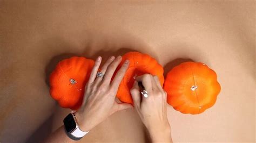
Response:
[{"label": "middle orange pumpkin, partly covered by both hands", "polygon": [[122,62],[118,66],[116,72],[120,69],[126,59],[130,60],[130,66],[127,69],[117,91],[117,97],[120,101],[133,104],[130,89],[133,87],[134,76],[146,73],[157,75],[161,85],[163,86],[164,69],[154,58],[139,52],[128,52],[123,55]]}]

